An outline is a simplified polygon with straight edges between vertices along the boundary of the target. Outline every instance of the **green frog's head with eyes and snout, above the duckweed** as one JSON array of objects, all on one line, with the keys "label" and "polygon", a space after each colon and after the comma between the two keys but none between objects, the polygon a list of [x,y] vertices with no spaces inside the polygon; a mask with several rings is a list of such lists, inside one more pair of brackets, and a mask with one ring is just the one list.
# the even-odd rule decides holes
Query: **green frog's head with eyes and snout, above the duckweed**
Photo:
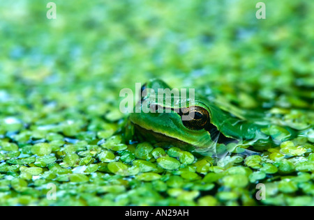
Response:
[{"label": "green frog's head with eyes and snout, above the duckweed", "polygon": [[[172,91],[170,97],[164,96],[165,91]],[[181,148],[214,147],[220,132],[211,123],[211,109],[204,101],[190,93],[179,93],[177,97],[178,93],[158,79],[144,84],[141,93],[140,103],[130,114],[130,122],[141,136]]]}]

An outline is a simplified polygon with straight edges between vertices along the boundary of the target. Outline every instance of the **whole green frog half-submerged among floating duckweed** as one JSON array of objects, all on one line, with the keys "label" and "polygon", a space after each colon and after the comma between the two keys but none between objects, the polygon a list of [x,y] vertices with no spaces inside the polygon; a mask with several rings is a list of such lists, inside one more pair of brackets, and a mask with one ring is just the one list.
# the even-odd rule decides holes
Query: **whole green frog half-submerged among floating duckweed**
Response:
[{"label": "whole green frog half-submerged among floating duckweed", "polygon": [[[172,90],[160,79],[151,79],[142,86],[141,99],[128,117],[130,136],[151,143],[168,143],[211,157],[232,152],[246,156],[260,154],[248,148],[256,143],[278,145],[297,136],[294,129],[272,124],[263,115],[230,108],[202,94],[190,96],[188,93],[177,98],[173,95],[160,102],[156,96],[160,89]],[[281,135],[278,138],[274,134]]]}]

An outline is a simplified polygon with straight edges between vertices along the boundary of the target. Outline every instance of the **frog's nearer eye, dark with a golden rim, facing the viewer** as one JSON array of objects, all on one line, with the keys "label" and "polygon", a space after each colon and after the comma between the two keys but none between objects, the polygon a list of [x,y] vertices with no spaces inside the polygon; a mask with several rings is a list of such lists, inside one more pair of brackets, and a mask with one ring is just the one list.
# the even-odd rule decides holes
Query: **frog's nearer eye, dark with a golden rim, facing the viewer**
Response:
[{"label": "frog's nearer eye, dark with a golden rim, facing the viewer", "polygon": [[187,120],[182,120],[182,123],[188,129],[200,130],[209,122],[209,112],[202,107],[193,106],[181,109],[181,116],[186,116]]}]

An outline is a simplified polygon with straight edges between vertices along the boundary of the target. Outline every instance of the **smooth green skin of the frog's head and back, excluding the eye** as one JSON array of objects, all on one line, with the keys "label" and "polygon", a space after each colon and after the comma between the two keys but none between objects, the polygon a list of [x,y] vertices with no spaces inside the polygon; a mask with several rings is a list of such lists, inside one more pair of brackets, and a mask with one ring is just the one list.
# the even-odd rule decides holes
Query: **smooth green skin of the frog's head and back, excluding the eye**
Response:
[{"label": "smooth green skin of the frog's head and back, excluding the eye", "polygon": [[[158,88],[170,88],[165,82],[158,79],[149,81],[146,88],[152,88],[157,94]],[[171,90],[171,88],[170,88]],[[148,100],[149,91],[142,97],[142,102]],[[186,95],[189,97],[189,95]],[[189,107],[192,100],[180,100]],[[270,136],[261,132],[262,129],[269,127],[268,121],[254,123],[246,120],[244,116],[234,116],[231,113],[223,111],[216,104],[209,102],[202,97],[196,97],[194,105],[206,109],[209,113],[209,122],[204,129],[190,129],[184,125],[179,113],[174,111],[172,102],[158,103],[164,109],[172,109],[170,113],[144,113],[142,105],[137,104],[134,113],[129,116],[130,123],[135,127],[135,133],[144,136],[147,141],[170,142],[181,148],[192,148],[198,152],[216,152],[216,143],[241,142],[250,143],[250,141],[264,140],[269,141]],[[151,107],[154,100],[148,102]],[[140,111],[140,113],[136,113]],[[237,141],[236,141],[237,140]]]}]

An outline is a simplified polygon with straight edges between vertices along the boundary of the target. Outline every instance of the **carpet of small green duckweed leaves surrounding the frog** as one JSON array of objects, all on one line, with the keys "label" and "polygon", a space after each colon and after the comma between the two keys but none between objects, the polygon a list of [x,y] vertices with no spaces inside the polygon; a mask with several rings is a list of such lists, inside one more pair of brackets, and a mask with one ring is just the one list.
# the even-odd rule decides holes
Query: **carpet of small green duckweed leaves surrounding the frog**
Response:
[{"label": "carpet of small green duckweed leaves surrounding the frog", "polygon": [[[23,2],[0,3],[0,205],[314,205],[313,1]],[[124,132],[119,92],[152,78],[283,126],[222,158]]]}]

